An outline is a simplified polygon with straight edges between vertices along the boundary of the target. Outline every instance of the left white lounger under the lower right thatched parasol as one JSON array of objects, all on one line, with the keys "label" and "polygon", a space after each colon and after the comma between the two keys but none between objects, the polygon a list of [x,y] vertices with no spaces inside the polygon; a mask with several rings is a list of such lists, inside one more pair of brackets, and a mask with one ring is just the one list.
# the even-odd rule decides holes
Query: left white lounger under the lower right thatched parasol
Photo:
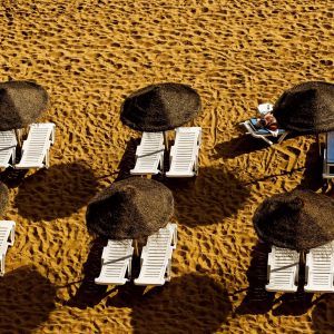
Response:
[{"label": "left white lounger under the lower right thatched parasol", "polygon": [[299,253],[286,248],[272,247],[268,254],[268,281],[266,291],[296,292],[299,271]]}]

